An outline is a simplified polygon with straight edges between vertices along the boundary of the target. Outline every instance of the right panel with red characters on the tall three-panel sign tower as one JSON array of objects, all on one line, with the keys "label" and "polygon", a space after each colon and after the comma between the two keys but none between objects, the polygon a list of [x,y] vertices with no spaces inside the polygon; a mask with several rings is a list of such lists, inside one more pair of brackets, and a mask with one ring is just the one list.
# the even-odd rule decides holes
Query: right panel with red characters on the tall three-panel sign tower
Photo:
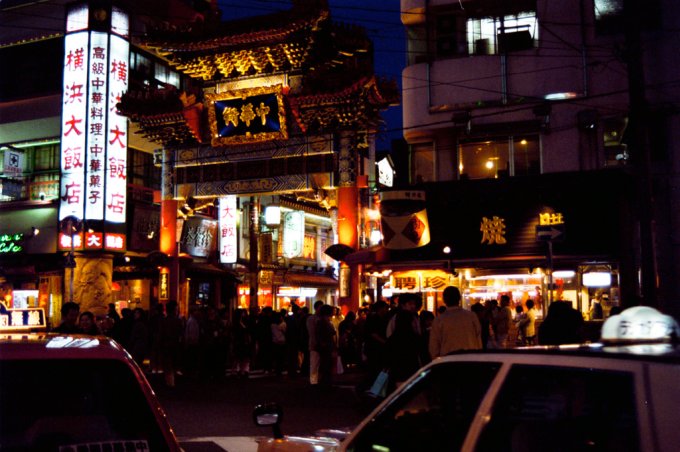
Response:
[{"label": "right panel with red characters on the tall three-panel sign tower", "polygon": [[111,223],[125,223],[127,202],[127,118],[116,113],[116,104],[127,91],[130,44],[111,35],[109,57],[108,136],[106,140],[106,216]]}]

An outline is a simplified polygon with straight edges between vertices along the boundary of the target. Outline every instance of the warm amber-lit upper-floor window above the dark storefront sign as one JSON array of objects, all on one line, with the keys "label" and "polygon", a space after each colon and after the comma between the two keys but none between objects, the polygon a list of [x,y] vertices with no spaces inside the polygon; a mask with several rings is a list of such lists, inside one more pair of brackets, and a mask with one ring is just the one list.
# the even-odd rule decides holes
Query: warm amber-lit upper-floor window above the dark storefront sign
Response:
[{"label": "warm amber-lit upper-floor window above the dark storefront sign", "polygon": [[540,172],[540,141],[537,135],[466,141],[458,146],[461,179],[497,179]]}]

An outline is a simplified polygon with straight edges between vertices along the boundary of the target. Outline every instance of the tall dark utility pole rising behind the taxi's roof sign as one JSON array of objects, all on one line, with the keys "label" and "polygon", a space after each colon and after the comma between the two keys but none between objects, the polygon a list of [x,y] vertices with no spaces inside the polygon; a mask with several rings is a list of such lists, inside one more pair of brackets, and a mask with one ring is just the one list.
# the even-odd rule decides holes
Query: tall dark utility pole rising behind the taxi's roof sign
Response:
[{"label": "tall dark utility pole rising behind the taxi's roof sign", "polygon": [[640,18],[645,5],[638,0],[624,0],[624,30],[628,89],[630,100],[631,160],[637,175],[637,208],[640,224],[641,303],[657,306],[657,268],[654,249],[654,194],[651,180],[651,156],[648,140],[648,108]]}]

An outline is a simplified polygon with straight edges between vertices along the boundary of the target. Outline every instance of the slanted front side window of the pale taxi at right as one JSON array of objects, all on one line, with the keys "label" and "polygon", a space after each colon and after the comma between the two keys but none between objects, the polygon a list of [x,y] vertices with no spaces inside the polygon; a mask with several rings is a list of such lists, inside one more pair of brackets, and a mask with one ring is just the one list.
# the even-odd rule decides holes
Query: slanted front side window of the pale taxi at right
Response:
[{"label": "slanted front side window of the pale taxi at right", "polygon": [[351,452],[460,450],[499,363],[457,362],[430,368],[376,415]]}]

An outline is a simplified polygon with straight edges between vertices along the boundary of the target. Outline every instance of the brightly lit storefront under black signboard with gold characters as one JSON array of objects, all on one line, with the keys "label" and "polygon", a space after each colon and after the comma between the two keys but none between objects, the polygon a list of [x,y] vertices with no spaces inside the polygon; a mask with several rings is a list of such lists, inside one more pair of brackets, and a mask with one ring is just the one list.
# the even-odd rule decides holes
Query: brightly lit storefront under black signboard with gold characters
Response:
[{"label": "brightly lit storefront under black signboard with gold characters", "polygon": [[[383,297],[422,293],[427,309],[441,305],[446,285],[470,306],[501,294],[517,305],[534,300],[541,314],[553,300],[587,313],[631,303],[623,295],[631,231],[629,180],[570,174],[513,180],[425,184],[431,242],[413,250],[381,250],[366,258],[365,284]],[[376,254],[376,253],[374,253]],[[388,276],[386,276],[388,275]]]}]

